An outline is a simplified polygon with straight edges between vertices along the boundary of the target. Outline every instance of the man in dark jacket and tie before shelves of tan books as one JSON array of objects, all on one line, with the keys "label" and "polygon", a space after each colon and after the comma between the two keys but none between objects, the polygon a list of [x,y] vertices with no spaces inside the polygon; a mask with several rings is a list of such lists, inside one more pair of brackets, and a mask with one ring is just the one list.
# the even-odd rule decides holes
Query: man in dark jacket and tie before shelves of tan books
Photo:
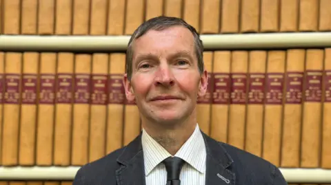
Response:
[{"label": "man in dark jacket and tie before shelves of tan books", "polygon": [[287,184],[270,162],[200,131],[197,98],[207,74],[199,34],[185,21],[156,17],[139,26],[128,43],[123,84],[143,131],[82,166],[73,185]]}]

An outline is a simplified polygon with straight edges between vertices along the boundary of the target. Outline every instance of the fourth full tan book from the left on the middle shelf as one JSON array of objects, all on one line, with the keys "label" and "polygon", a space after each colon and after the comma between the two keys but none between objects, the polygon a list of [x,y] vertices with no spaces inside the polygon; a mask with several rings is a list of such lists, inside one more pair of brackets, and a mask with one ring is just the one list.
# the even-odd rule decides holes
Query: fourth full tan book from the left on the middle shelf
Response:
[{"label": "fourth full tan book from the left on the middle shelf", "polygon": [[57,77],[54,126],[54,166],[70,165],[72,138],[72,102],[74,83],[74,54],[57,54]]}]

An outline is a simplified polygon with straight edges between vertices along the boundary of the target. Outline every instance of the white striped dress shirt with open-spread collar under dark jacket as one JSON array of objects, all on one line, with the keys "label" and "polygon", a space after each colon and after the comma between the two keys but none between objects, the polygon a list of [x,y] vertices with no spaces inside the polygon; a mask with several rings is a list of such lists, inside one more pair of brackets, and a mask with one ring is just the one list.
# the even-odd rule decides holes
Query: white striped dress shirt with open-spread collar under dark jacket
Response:
[{"label": "white striped dress shirt with open-spread collar under dark jacket", "polygon": [[[161,162],[172,155],[148,135],[144,129],[141,135],[141,142],[143,146],[146,185],[166,184],[167,171]],[[198,124],[190,138],[174,156],[185,160],[185,164],[179,175],[181,185],[205,184],[205,142]]]}]

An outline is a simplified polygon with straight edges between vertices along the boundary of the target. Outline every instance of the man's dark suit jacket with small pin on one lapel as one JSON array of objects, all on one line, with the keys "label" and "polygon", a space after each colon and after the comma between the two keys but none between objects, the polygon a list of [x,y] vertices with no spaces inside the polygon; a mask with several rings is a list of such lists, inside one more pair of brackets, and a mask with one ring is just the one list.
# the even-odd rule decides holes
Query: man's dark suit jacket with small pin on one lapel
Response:
[{"label": "man's dark suit jacket with small pin on one lapel", "polygon": [[[270,162],[204,133],[203,138],[207,151],[205,185],[287,184],[279,168]],[[128,146],[79,168],[73,185],[145,185],[141,135]]]}]

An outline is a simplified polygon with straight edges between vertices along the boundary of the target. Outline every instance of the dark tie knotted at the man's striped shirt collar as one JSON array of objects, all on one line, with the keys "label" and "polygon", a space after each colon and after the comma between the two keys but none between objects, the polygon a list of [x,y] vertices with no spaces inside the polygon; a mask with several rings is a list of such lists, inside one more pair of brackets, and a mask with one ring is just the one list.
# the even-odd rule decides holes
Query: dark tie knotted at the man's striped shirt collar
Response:
[{"label": "dark tie knotted at the man's striped shirt collar", "polygon": [[163,164],[167,169],[167,184],[166,185],[180,185],[181,180],[179,179],[179,175],[181,174],[181,167],[185,163],[179,157],[168,157],[163,160]]}]

